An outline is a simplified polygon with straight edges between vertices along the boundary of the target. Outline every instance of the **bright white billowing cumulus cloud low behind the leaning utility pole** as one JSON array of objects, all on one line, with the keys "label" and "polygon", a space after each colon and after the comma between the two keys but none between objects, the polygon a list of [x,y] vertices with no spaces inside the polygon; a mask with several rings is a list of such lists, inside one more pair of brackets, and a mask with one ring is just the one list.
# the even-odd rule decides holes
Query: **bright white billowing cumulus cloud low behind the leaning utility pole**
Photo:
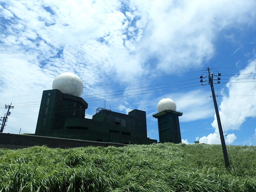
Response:
[{"label": "bright white billowing cumulus cloud low behind the leaning utility pole", "polygon": [[[251,80],[256,78],[255,65],[256,60],[251,61],[246,68],[239,72],[239,75],[231,77],[226,87],[221,90],[225,97],[220,103],[219,114],[222,120],[222,127],[225,127],[226,132],[239,130],[246,118],[256,117],[256,100],[253,99],[256,95],[256,82]],[[241,81],[245,82],[239,83]],[[199,142],[208,144],[220,143],[216,115],[211,125],[215,128],[215,133],[201,137]],[[237,136],[231,133],[227,135],[227,138],[228,143],[231,144],[237,139]]]}]

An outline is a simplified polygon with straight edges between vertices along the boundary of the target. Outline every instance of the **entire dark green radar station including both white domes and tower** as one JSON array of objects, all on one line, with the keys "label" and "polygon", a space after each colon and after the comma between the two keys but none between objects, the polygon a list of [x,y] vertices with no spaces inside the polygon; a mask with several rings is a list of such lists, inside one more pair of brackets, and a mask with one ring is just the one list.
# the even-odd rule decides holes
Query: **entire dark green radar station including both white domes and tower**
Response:
[{"label": "entire dark green radar station including both white domes and tower", "polygon": [[[88,103],[81,98],[83,82],[74,73],[61,73],[52,90],[42,94],[34,135],[120,144],[151,144],[147,137],[146,112],[134,109],[128,114],[98,108],[92,119],[85,118]],[[157,105],[159,141],[181,143],[179,116],[173,100]]]}]

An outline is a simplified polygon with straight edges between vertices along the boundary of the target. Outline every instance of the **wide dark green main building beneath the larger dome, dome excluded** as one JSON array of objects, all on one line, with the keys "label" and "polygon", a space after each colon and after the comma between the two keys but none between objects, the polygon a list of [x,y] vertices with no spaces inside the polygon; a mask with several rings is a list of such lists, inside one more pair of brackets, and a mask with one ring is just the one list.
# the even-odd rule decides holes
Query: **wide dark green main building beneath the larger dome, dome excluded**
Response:
[{"label": "wide dark green main building beneath the larger dome, dome excluded", "polygon": [[43,91],[35,135],[122,144],[151,144],[147,137],[146,112],[127,114],[98,108],[86,119],[88,103],[57,89]]}]

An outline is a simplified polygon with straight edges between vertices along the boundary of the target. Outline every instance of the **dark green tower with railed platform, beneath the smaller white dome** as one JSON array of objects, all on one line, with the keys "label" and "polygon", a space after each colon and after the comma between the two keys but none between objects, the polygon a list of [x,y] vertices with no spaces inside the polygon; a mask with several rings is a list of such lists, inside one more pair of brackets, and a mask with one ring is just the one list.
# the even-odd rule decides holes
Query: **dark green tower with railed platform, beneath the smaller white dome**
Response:
[{"label": "dark green tower with railed platform, beneath the smaller white dome", "polygon": [[166,109],[153,114],[158,122],[159,142],[181,143],[179,116],[182,112]]}]

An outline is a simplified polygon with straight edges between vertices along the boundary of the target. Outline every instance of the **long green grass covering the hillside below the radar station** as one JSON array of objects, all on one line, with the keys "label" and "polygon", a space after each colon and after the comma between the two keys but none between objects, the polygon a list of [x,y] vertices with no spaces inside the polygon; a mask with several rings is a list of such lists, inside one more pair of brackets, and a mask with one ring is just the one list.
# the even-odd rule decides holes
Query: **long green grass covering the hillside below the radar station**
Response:
[{"label": "long green grass covering the hillside below the radar station", "polygon": [[230,171],[221,145],[0,149],[0,191],[256,191],[256,147],[227,149]]}]

